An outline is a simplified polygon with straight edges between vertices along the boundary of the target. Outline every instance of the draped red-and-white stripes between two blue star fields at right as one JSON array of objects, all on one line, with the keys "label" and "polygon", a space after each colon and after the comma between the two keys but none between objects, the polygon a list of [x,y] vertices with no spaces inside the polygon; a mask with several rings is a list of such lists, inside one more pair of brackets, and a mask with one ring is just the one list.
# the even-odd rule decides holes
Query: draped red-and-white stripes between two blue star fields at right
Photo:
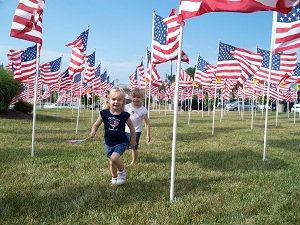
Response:
[{"label": "draped red-and-white stripes between two blue star fields at right", "polygon": [[239,62],[242,73],[237,79],[237,84],[242,86],[248,77],[253,76],[262,64],[263,57],[261,54],[257,54],[248,51],[243,48],[235,48],[231,52],[231,55]]}]

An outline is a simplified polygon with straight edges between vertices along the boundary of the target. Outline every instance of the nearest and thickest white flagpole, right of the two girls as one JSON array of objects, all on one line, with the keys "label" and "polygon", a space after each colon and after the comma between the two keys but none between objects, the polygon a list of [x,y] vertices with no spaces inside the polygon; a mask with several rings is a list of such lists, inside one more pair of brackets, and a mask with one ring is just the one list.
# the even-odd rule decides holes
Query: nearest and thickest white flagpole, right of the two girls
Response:
[{"label": "nearest and thickest white flagpole, right of the two girls", "polygon": [[175,77],[173,137],[172,137],[172,160],[171,160],[171,181],[170,181],[170,201],[174,201],[176,131],[177,131],[178,92],[179,92],[179,75],[180,75],[180,68],[181,68],[182,37],[183,37],[183,23],[180,24],[177,69],[176,69],[176,77]]}]

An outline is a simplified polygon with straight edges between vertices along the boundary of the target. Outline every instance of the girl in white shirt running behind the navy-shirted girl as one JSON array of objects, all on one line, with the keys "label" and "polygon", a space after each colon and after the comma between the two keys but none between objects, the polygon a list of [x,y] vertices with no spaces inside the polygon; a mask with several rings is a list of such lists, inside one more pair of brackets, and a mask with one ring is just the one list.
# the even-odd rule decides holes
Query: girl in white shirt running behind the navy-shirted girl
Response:
[{"label": "girl in white shirt running behind the navy-shirted girl", "polygon": [[[134,164],[138,160],[138,146],[139,146],[139,140],[142,133],[143,128],[143,119],[146,124],[146,142],[147,144],[150,143],[150,122],[149,118],[147,116],[147,109],[142,105],[142,99],[143,99],[143,93],[139,88],[134,88],[131,92],[131,100],[132,102],[125,105],[125,111],[130,113],[130,119],[133,123],[134,129],[135,129],[135,140],[136,145],[131,145],[132,148],[132,161],[131,164]],[[126,126],[125,128],[126,135],[128,139],[130,139],[130,127]]]}]

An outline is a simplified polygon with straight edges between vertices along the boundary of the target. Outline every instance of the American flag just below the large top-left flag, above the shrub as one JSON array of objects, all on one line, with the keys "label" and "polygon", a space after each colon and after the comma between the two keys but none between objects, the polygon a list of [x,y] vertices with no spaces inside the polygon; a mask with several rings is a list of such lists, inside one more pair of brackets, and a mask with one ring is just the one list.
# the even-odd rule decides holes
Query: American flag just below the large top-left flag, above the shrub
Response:
[{"label": "American flag just below the large top-left flag, above the shrub", "polygon": [[36,74],[37,45],[27,48],[18,57],[13,58],[15,80],[25,80]]}]

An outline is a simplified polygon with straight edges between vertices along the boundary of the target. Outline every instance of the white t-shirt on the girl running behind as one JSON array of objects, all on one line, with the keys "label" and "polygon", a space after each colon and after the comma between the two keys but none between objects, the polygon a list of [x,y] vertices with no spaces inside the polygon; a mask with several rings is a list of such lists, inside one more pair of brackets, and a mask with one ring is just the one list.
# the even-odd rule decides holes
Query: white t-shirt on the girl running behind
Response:
[{"label": "white t-shirt on the girl running behind", "polygon": [[[130,119],[133,123],[135,132],[142,132],[143,129],[143,118],[147,115],[147,109],[145,106],[141,106],[140,108],[134,108],[132,103],[125,105],[125,111],[129,112]],[[130,132],[129,127],[126,124],[125,128],[126,132]]]}]

